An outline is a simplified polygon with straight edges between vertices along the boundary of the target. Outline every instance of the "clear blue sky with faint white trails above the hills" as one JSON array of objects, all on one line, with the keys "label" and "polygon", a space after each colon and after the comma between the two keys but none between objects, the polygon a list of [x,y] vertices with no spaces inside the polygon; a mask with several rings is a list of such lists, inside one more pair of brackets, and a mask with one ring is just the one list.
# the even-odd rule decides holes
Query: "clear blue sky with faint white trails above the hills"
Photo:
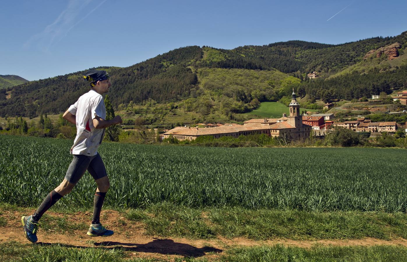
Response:
[{"label": "clear blue sky with faint white trails above the hills", "polygon": [[0,74],[37,80],[126,67],[192,45],[232,49],[394,36],[407,31],[406,11],[405,0],[4,1]]}]

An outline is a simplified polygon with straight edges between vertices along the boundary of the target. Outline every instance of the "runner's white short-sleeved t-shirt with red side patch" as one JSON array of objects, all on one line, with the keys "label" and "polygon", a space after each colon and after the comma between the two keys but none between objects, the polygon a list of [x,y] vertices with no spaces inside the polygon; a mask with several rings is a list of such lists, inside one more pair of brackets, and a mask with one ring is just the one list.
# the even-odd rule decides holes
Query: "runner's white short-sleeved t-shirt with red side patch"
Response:
[{"label": "runner's white short-sleeved t-shirt with red side patch", "polygon": [[103,96],[94,90],[79,97],[78,101],[68,109],[76,116],[77,136],[71,148],[71,154],[94,156],[102,143],[105,129],[96,129],[93,119],[96,116],[105,119],[106,107]]}]

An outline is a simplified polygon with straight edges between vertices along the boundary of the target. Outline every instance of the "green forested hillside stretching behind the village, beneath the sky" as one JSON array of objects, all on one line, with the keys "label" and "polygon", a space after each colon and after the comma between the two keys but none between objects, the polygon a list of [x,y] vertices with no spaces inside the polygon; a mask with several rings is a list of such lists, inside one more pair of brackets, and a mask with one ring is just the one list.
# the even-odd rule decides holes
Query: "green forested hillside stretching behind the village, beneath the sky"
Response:
[{"label": "green forested hillside stretching behind the village, beneath the sky", "polygon": [[[395,51],[398,57],[392,60],[396,62],[384,64],[386,55],[363,59],[370,50],[394,43],[400,44]],[[289,96],[293,87],[311,100],[359,98],[405,88],[406,43],[404,32],[339,45],[287,41],[232,50],[187,46],[126,68],[101,68],[111,75],[109,97],[116,108],[131,102],[168,103],[204,96],[213,103],[224,96],[229,101],[225,106],[234,107],[225,112],[244,112],[259,101]],[[319,72],[319,79],[303,79],[313,71]],[[89,89],[82,81],[84,72],[8,87],[10,99],[4,95],[6,90],[0,90],[0,115],[32,117],[66,110]]]}]

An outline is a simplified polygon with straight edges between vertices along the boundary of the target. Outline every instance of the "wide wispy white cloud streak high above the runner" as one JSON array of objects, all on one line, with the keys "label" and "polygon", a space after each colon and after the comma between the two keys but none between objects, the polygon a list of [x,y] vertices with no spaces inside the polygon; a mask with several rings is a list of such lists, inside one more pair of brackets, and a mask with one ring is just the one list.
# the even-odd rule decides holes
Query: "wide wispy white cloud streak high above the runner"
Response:
[{"label": "wide wispy white cloud streak high above the runner", "polygon": [[24,44],[25,48],[29,48],[36,45],[39,50],[43,52],[49,52],[50,47],[53,44],[57,44],[59,41],[66,37],[69,31],[72,30],[77,24],[82,22],[86,17],[93,13],[98,7],[100,7],[107,0],[100,2],[94,9],[86,13],[81,19],[78,20],[78,16],[85,7],[92,2],[92,0],[70,0],[68,6],[57,17],[57,19],[51,24],[47,25],[41,33],[33,35]]}]

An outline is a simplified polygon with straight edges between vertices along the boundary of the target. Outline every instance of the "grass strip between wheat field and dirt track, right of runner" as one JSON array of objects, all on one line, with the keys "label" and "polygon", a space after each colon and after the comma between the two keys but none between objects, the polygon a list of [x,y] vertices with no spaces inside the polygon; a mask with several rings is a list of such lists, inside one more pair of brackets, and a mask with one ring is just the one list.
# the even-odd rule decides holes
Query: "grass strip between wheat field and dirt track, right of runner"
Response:
[{"label": "grass strip between wheat field and dirt track, right of runner", "polygon": [[407,215],[381,212],[248,210],[241,207],[195,209],[169,203],[131,209],[126,217],[145,224],[150,235],[188,238],[245,237],[253,240],[407,238]]}]

